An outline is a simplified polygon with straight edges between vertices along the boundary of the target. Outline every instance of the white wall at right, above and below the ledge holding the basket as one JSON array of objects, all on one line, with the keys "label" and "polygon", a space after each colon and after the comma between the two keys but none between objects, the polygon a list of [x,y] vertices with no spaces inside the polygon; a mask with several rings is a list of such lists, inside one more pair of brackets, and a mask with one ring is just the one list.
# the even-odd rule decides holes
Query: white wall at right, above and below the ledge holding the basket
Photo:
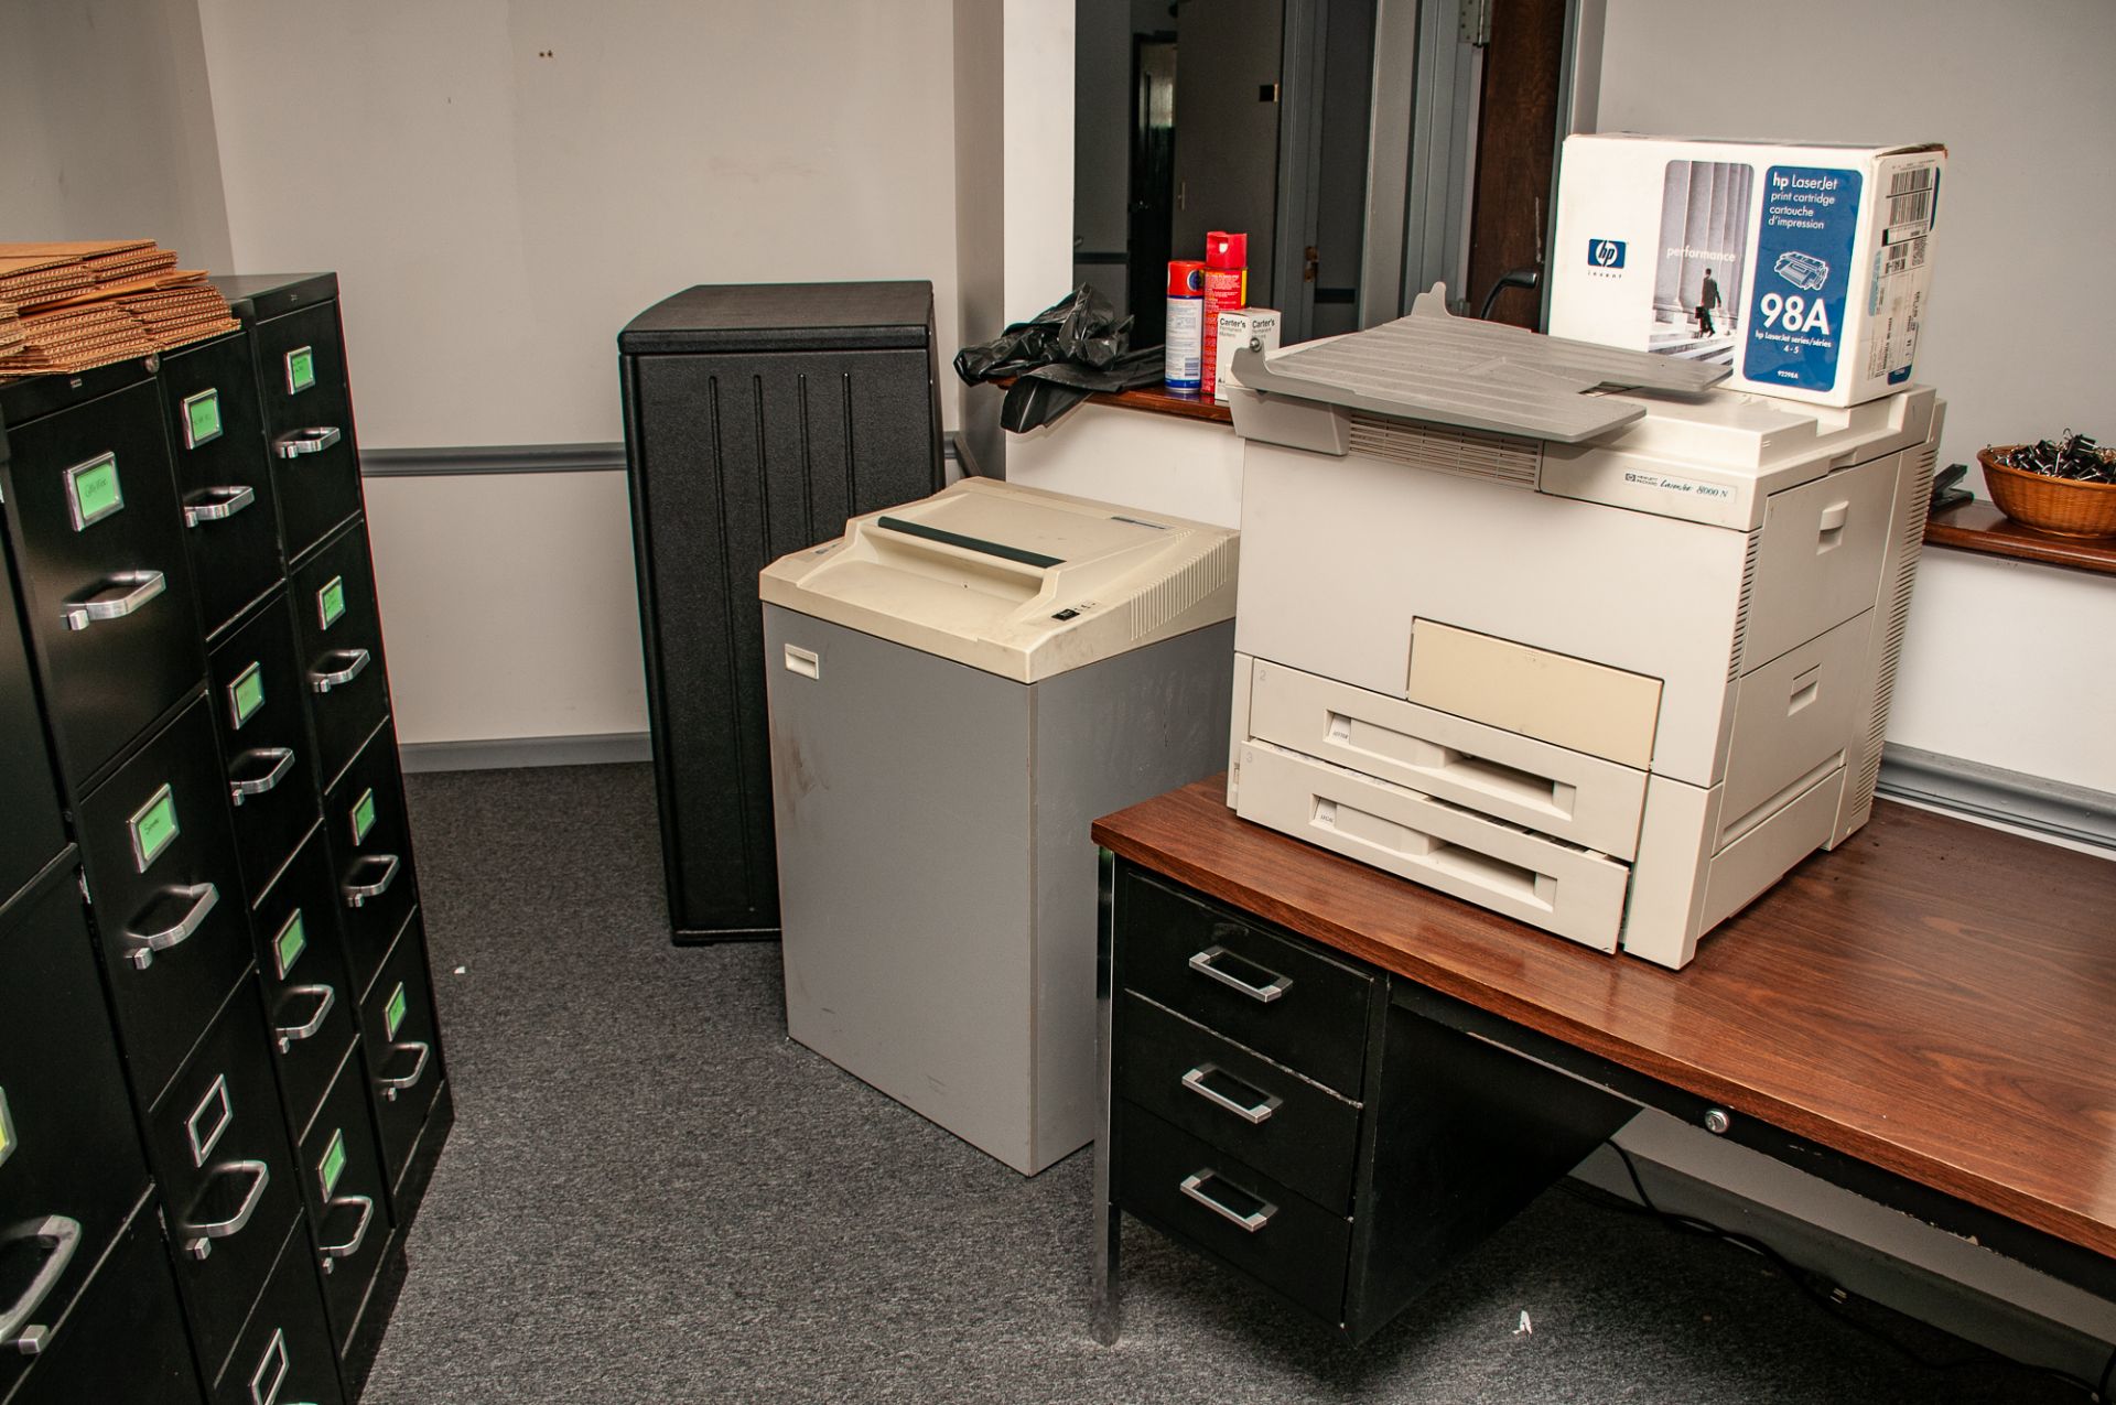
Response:
[{"label": "white wall at right, above and below the ledge holding the basket", "polygon": [[[2067,425],[2116,438],[2112,61],[2108,0],[2031,17],[1983,0],[1608,0],[1600,127],[1945,142],[1917,379],[1949,402],[1940,463],[1974,466],[1985,444]],[[2000,726],[2021,709],[2108,715],[2112,607],[2105,576],[1928,550],[1890,741],[2116,791],[2108,728]]]}]

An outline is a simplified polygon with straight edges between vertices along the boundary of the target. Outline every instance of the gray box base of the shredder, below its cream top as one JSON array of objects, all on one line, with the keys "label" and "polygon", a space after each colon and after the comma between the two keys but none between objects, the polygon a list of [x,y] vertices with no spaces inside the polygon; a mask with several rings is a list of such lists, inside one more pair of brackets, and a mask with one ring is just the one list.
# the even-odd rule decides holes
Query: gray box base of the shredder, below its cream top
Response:
[{"label": "gray box base of the shredder, below its cream top", "polygon": [[764,647],[787,1033],[1020,1172],[1088,1145],[1088,825],[1225,766],[1234,624],[1026,686],[781,605]]}]

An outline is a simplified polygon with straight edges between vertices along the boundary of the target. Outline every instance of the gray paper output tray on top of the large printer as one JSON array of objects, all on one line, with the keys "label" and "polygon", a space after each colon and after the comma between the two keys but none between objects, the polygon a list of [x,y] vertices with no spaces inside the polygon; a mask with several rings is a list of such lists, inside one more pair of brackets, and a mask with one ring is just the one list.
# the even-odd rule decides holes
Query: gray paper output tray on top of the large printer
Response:
[{"label": "gray paper output tray on top of the large printer", "polygon": [[1697,394],[1731,366],[1559,341],[1447,313],[1447,290],[1418,294],[1411,315],[1265,358],[1242,347],[1244,389],[1354,410],[1579,444],[1640,419],[1642,404],[1598,389]]}]

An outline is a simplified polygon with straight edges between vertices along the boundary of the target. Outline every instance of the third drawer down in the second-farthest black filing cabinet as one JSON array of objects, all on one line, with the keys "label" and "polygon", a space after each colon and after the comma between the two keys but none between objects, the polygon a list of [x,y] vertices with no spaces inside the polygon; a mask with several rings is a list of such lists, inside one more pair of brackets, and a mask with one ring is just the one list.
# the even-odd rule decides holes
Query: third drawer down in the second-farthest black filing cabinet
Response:
[{"label": "third drawer down in the second-farthest black filing cabinet", "polygon": [[300,1136],[360,1037],[360,997],[345,973],[322,825],[311,825],[294,861],[258,901],[254,927],[286,1126]]}]

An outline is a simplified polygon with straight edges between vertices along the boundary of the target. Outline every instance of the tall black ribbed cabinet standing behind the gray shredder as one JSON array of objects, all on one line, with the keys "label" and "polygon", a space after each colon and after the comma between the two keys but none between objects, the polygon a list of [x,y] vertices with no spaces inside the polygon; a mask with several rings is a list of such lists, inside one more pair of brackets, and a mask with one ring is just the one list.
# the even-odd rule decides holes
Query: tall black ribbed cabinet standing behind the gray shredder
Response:
[{"label": "tall black ribbed cabinet standing behind the gray shredder", "polygon": [[940,491],[933,288],[690,288],[618,353],[669,918],[777,937],[758,571]]}]

